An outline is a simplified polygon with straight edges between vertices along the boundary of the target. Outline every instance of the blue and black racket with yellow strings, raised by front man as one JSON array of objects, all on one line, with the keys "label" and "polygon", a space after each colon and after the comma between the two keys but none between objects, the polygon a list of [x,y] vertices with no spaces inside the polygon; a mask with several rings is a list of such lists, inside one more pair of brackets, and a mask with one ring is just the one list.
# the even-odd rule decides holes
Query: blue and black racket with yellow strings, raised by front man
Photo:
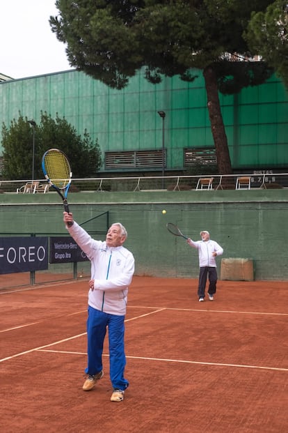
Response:
[{"label": "blue and black racket with yellow strings, raised by front man", "polygon": [[[42,156],[42,170],[49,185],[63,200],[65,212],[69,213],[67,194],[71,185],[72,172],[67,156],[59,149],[49,149]],[[68,222],[67,225],[71,226],[72,222]]]}]

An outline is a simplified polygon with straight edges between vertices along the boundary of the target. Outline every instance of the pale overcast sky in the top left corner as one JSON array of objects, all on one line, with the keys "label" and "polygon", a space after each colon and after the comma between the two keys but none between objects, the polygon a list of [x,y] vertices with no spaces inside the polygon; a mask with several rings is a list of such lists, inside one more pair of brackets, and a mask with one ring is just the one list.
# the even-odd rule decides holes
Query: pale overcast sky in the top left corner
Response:
[{"label": "pale overcast sky in the top left corner", "polygon": [[57,15],[55,0],[1,1],[0,73],[24,78],[71,69],[50,15]]}]

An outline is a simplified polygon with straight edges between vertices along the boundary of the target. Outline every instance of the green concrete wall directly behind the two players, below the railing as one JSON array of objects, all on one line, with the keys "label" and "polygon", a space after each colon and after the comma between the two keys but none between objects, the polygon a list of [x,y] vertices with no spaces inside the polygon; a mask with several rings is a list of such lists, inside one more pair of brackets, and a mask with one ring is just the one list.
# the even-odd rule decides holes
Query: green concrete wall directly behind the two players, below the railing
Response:
[{"label": "green concrete wall directly behind the two players, below the railing", "polygon": [[[137,275],[198,277],[197,251],[167,231],[173,222],[195,240],[209,230],[223,258],[253,259],[255,280],[288,280],[288,190],[71,192],[68,199],[79,223],[109,211],[110,223],[125,225]],[[66,233],[56,192],[1,194],[0,203],[0,236]],[[92,224],[88,231],[97,231],[97,219]],[[221,257],[219,277],[220,269]]]}]

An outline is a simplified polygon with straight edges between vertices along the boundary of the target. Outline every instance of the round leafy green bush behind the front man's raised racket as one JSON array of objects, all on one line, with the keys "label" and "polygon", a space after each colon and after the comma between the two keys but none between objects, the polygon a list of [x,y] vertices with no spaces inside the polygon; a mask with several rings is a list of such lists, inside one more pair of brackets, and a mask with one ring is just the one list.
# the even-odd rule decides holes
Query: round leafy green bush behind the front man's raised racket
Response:
[{"label": "round leafy green bush behind the front man's raised racket", "polygon": [[81,137],[64,118],[57,114],[56,119],[52,119],[47,113],[42,113],[40,123],[35,123],[31,127],[28,119],[19,113],[19,119],[13,119],[9,127],[5,123],[2,126],[3,178],[11,180],[31,178],[33,140],[34,178],[43,178],[42,155],[54,147],[66,153],[73,176],[76,178],[93,177],[101,166],[99,145],[97,141],[93,143],[88,132],[84,132]]}]

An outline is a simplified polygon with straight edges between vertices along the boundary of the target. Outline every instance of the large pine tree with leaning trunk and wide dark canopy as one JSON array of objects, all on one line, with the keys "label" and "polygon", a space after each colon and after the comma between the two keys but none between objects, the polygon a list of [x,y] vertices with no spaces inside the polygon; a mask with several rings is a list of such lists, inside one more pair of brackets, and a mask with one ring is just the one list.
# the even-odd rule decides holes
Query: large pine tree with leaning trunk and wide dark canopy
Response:
[{"label": "large pine tree with leaning trunk and wide dark canopy", "polygon": [[122,89],[136,71],[154,84],[163,75],[192,81],[203,71],[218,169],[231,172],[218,90],[262,84],[273,70],[248,61],[250,15],[269,0],[57,0],[51,30],[67,43],[71,66]]}]

